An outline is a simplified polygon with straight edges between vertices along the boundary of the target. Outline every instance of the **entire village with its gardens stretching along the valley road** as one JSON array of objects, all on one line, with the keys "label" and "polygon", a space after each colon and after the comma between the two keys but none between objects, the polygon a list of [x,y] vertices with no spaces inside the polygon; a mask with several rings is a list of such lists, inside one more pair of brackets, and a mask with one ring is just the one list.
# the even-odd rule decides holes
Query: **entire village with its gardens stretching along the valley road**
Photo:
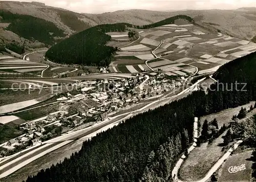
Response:
[{"label": "entire village with its gardens stretching along the valley road", "polygon": [[63,93],[62,97],[56,99],[61,105],[59,111],[35,120],[20,122],[22,124],[16,127],[24,131],[24,134],[0,144],[0,156],[12,155],[63,133],[108,121],[110,117],[118,112],[125,112],[127,108],[136,110],[136,105],[148,103],[152,99],[157,100],[186,82],[184,77],[169,79],[160,73],[155,76],[136,74],[131,78],[73,83],[74,89],[78,88],[80,93]]}]

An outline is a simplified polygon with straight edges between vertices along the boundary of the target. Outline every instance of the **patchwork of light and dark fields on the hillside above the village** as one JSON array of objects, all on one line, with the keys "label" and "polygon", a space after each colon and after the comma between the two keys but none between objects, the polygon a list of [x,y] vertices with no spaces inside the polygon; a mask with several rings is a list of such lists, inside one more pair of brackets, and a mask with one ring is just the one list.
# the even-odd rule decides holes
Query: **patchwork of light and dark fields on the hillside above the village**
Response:
[{"label": "patchwork of light and dark fields on the hillside above the village", "polygon": [[[215,72],[221,65],[256,50],[256,43],[209,32],[185,20],[137,31],[140,38],[121,47],[115,58],[135,56],[142,61],[150,60],[148,66],[151,69],[167,75],[189,76],[196,72],[199,75]],[[124,36],[124,33],[121,34]],[[152,61],[151,59],[154,60],[155,57],[152,51],[162,59]],[[136,63],[132,59],[125,60],[123,64],[125,66],[120,65],[122,67],[119,68],[120,62],[118,62],[111,65],[110,71],[115,73],[136,73],[135,70],[142,72],[138,70],[142,61]],[[182,64],[175,65],[177,63]],[[150,70],[150,68],[147,69]]]}]

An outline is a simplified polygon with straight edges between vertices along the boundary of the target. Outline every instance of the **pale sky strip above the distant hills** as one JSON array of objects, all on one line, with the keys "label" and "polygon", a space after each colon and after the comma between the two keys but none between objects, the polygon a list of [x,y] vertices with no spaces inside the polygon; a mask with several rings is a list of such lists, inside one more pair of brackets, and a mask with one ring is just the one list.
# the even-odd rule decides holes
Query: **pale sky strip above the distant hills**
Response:
[{"label": "pale sky strip above the distant hills", "polygon": [[[15,1],[15,0],[9,0]],[[16,0],[17,1],[17,0]],[[21,0],[22,1],[22,0]],[[78,13],[104,13],[127,9],[184,10],[184,9],[237,9],[256,7],[256,0],[34,0],[48,6]],[[31,2],[31,0],[23,0]]]}]

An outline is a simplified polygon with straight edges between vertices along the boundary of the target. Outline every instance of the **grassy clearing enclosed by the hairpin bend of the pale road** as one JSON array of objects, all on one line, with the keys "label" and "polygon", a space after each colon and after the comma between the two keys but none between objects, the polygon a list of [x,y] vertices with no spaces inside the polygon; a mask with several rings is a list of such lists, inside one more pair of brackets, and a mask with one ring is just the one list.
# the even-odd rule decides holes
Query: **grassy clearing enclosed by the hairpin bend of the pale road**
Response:
[{"label": "grassy clearing enclosed by the hairpin bend of the pale road", "polygon": [[180,168],[180,179],[184,181],[195,181],[203,178],[210,168],[225,153],[219,144],[223,143],[224,132],[211,144],[203,143],[200,147],[192,150],[184,164]]}]

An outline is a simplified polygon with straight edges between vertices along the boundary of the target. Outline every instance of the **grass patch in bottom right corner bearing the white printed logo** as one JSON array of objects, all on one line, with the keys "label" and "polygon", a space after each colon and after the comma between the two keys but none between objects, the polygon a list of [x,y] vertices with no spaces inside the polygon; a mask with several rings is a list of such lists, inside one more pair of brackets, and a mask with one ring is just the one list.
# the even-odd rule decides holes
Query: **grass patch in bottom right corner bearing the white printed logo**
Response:
[{"label": "grass patch in bottom right corner bearing the white printed logo", "polygon": [[[246,151],[244,153],[234,154],[227,158],[227,161],[223,164],[221,174],[218,181],[231,182],[231,181],[251,181],[251,165],[250,160],[252,151]],[[231,166],[241,166],[245,164],[245,170],[238,171],[237,173],[229,173],[228,168]]]}]

